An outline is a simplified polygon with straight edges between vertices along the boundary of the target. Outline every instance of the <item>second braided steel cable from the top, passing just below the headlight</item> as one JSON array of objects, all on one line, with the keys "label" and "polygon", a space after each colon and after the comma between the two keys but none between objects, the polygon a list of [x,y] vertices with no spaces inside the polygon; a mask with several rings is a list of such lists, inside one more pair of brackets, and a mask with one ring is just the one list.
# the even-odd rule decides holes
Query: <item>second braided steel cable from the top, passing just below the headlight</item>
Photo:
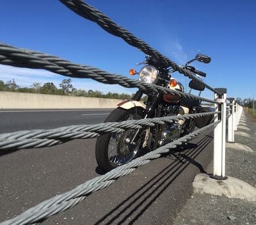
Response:
[{"label": "second braided steel cable from the top, passing just below the headlight", "polygon": [[119,84],[123,87],[137,87],[143,93],[170,93],[179,97],[187,97],[203,102],[216,103],[208,98],[202,98],[181,91],[175,91],[167,87],[156,85],[155,83],[145,83],[141,80],[132,80],[119,74],[110,74],[85,65],[71,63],[54,55],[42,52],[35,52],[21,48],[15,48],[0,42],[0,64],[12,65],[26,68],[43,68],[56,74],[73,78],[91,78],[101,83]]}]

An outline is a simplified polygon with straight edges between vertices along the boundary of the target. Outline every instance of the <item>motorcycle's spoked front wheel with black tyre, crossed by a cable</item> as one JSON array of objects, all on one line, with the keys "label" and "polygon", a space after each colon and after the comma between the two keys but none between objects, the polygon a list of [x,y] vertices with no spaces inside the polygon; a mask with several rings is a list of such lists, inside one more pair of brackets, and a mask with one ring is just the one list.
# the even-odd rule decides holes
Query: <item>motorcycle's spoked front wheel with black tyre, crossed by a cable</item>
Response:
[{"label": "motorcycle's spoked front wheel with black tyre, crossed by a cable", "polygon": [[[125,110],[117,108],[105,119],[105,122],[119,122],[143,118],[143,108]],[[122,133],[103,134],[96,141],[96,160],[101,170],[108,172],[136,158],[141,150],[142,138],[137,138],[136,144],[128,144],[136,130],[129,129]]]}]

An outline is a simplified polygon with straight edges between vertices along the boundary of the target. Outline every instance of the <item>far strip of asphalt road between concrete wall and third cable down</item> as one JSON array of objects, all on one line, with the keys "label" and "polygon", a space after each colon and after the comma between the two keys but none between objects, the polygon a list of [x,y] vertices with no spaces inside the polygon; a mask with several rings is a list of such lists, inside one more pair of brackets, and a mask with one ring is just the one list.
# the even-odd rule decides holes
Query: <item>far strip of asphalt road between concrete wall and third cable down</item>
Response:
[{"label": "far strip of asphalt road between concrete wall and third cable down", "polygon": [[109,109],[2,110],[0,111],[0,133],[101,123],[111,111]]}]

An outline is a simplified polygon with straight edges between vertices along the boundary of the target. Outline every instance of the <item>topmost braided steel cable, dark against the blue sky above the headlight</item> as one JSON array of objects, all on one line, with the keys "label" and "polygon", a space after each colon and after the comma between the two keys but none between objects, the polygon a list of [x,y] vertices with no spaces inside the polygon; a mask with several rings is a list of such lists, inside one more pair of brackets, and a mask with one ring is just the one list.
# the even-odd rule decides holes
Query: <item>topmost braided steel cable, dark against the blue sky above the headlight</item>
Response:
[{"label": "topmost braided steel cable, dark against the blue sky above the headlight", "polygon": [[107,17],[103,12],[98,10],[97,8],[88,5],[82,0],[59,0],[62,2],[67,8],[71,9],[73,12],[79,14],[83,18],[90,20],[92,22],[96,22],[102,29],[110,33],[111,35],[115,35],[117,37],[122,38],[126,43],[139,48],[142,52],[147,55],[151,55],[156,59],[159,59],[166,67],[172,67],[174,70],[179,71],[179,73],[188,76],[192,80],[196,80],[198,83],[202,83],[206,88],[213,91],[213,93],[221,94],[219,91],[216,91],[208,84],[204,83],[201,79],[196,77],[190,70],[187,70],[184,67],[179,67],[176,63],[168,59],[168,57],[162,55],[160,52],[157,52],[155,49],[151,48],[147,43],[143,40],[135,37],[132,33],[120,27],[117,23],[113,22],[109,17]]}]

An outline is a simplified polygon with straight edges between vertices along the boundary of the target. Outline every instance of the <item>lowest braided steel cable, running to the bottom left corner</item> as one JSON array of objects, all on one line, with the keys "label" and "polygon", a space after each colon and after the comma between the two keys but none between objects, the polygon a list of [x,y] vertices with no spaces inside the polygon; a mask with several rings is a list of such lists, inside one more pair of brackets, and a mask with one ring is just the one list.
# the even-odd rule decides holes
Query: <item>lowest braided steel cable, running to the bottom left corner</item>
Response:
[{"label": "lowest braided steel cable, running to the bottom left corner", "polygon": [[79,185],[78,187],[65,192],[64,194],[60,194],[50,200],[46,200],[45,202],[39,203],[35,207],[28,209],[24,213],[14,217],[10,220],[6,220],[5,222],[0,223],[0,225],[25,225],[25,224],[35,224],[42,222],[46,218],[56,215],[66,209],[69,209],[77,203],[82,202],[87,196],[92,194],[92,192],[96,192],[97,190],[101,190],[103,188],[109,187],[113,184],[119,177],[128,175],[139,166],[143,166],[151,160],[155,158],[161,157],[163,153],[168,153],[170,149],[177,147],[177,145],[181,145],[183,142],[187,142],[191,140],[198,134],[208,130],[209,128],[217,125],[220,121],[216,121],[215,123],[211,123],[206,127],[200,128],[191,134],[187,134],[174,142],[168,143],[162,147],[159,147],[155,151],[151,151],[142,157],[136,158],[127,164],[119,166],[111,172],[105,173],[105,175],[101,175],[99,177],[95,177],[94,179],[90,179],[85,183]]}]

